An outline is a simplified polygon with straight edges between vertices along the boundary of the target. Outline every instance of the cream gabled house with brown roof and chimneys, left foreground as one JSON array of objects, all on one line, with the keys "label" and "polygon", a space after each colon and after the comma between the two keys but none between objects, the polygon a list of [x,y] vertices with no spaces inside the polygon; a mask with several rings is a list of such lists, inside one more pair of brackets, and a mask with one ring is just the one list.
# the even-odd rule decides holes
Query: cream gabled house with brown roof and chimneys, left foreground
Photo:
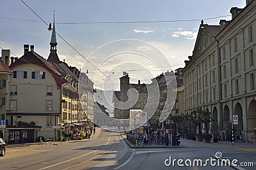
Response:
[{"label": "cream gabled house with brown roof and chimneys, left foreground", "polygon": [[65,81],[50,62],[24,45],[24,55],[10,65],[10,96],[6,129],[9,142],[33,142],[38,136],[45,139],[58,136],[61,113],[61,86]]}]

